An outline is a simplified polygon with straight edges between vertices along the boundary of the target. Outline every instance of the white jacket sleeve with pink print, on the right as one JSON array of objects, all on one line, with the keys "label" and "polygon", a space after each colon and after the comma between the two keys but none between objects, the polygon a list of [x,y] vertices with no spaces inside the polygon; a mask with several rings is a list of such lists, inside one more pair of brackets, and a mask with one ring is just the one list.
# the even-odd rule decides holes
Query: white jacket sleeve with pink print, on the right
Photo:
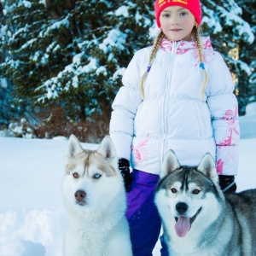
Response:
[{"label": "white jacket sleeve with pink print, on the right", "polygon": [[216,53],[208,71],[207,104],[212,116],[218,174],[236,175],[240,129],[234,82],[221,55]]}]

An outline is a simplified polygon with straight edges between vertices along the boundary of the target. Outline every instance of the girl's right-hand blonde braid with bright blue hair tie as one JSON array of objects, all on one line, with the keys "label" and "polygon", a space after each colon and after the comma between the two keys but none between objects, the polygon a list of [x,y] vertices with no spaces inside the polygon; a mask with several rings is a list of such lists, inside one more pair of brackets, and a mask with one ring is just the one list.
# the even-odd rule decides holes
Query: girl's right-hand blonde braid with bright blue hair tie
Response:
[{"label": "girl's right-hand blonde braid with bright blue hair tie", "polygon": [[199,53],[200,67],[202,68],[203,75],[204,75],[204,82],[201,86],[201,96],[205,100],[204,92],[205,92],[206,87],[207,87],[208,76],[207,76],[206,68],[204,66],[204,56],[203,56],[203,50],[202,50],[202,47],[201,47],[199,26],[194,26],[192,32],[193,32],[195,44],[196,44],[196,47],[197,47],[198,53]]}]

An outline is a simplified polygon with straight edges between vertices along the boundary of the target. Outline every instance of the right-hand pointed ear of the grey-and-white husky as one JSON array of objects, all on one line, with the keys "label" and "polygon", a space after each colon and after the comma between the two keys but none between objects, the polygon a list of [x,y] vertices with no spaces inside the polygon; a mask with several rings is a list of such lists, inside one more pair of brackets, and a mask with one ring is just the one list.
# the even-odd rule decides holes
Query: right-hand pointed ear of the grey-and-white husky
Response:
[{"label": "right-hand pointed ear of the grey-and-white husky", "polygon": [[218,183],[218,173],[212,154],[207,153],[203,156],[199,166],[197,166],[197,170],[209,177],[213,183]]}]

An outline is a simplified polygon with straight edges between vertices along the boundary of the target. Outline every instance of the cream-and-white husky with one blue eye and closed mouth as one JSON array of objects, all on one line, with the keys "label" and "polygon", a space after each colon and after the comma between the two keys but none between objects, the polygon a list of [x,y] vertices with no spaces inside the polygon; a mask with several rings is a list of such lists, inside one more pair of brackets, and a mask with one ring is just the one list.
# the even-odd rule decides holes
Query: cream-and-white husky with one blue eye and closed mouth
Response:
[{"label": "cream-and-white husky with one blue eye and closed mouth", "polygon": [[125,186],[110,137],[96,151],[84,150],[73,135],[69,138],[63,197],[65,256],[132,255]]}]

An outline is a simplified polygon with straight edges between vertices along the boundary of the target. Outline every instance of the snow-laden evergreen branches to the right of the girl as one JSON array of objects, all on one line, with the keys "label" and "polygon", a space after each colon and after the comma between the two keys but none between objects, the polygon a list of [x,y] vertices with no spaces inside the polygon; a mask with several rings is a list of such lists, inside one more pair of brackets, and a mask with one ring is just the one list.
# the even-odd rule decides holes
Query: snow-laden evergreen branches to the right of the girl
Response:
[{"label": "snow-laden evergreen branches to the right of the girl", "polygon": [[[211,36],[213,47],[224,56],[231,73],[237,79],[236,94],[239,101],[239,113],[244,114],[249,80],[253,73],[252,58],[255,55],[253,44],[255,33],[253,11],[255,8],[253,6],[256,1],[202,0],[201,3],[204,15],[202,20],[204,34]],[[248,15],[251,15],[251,19]],[[230,54],[230,51],[234,52],[234,50],[236,54]]]}]

